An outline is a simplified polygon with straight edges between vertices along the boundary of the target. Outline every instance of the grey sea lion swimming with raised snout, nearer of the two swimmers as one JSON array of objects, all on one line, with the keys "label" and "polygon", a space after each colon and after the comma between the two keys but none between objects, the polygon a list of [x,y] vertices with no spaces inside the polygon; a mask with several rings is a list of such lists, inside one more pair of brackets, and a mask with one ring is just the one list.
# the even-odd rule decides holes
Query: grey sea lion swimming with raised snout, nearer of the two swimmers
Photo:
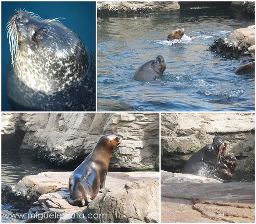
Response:
[{"label": "grey sea lion swimming with raised snout, nearer of the two swimmers", "polygon": [[141,81],[156,80],[163,75],[166,69],[165,58],[158,55],[155,60],[150,60],[138,67],[135,72],[134,79]]}]

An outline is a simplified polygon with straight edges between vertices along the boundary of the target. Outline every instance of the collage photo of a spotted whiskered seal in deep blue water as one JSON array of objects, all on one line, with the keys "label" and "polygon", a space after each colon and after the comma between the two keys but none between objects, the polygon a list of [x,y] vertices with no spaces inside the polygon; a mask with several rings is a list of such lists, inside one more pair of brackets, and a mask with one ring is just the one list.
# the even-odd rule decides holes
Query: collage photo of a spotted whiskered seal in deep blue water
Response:
[{"label": "collage photo of a spotted whiskered seal in deep blue water", "polygon": [[96,2],[1,2],[2,111],[96,110]]}]

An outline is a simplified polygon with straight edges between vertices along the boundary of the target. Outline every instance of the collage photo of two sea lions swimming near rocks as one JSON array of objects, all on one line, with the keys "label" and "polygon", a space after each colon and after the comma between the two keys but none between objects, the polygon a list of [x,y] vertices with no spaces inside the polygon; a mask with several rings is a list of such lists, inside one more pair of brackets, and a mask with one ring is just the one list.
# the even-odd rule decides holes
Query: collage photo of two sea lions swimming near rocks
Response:
[{"label": "collage photo of two sea lions swimming near rocks", "polygon": [[255,2],[97,2],[100,111],[254,111]]}]

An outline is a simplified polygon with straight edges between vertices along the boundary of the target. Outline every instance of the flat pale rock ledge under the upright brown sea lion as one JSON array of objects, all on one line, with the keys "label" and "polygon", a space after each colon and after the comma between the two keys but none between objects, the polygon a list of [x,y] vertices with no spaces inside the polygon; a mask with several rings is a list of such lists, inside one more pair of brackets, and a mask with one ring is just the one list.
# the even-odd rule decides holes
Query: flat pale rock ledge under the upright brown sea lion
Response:
[{"label": "flat pale rock ledge under the upright brown sea lion", "polygon": [[66,200],[71,173],[26,176],[2,202],[29,206],[26,222],[159,222],[159,172],[108,172],[106,190],[82,208]]}]

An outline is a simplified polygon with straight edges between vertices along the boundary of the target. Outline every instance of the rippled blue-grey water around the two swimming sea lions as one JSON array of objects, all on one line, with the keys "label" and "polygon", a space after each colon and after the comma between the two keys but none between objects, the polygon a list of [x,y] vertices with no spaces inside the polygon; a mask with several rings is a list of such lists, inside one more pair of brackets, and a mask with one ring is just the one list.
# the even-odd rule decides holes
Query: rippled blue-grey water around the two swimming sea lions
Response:
[{"label": "rippled blue-grey water around the two swimming sea lions", "polygon": [[[181,10],[98,18],[98,97],[122,100],[138,111],[251,111],[254,75],[235,74],[240,60],[208,50],[214,39],[254,24],[227,11]],[[176,28],[181,40],[166,41]],[[138,66],[166,58],[164,76],[133,79]]]}]

